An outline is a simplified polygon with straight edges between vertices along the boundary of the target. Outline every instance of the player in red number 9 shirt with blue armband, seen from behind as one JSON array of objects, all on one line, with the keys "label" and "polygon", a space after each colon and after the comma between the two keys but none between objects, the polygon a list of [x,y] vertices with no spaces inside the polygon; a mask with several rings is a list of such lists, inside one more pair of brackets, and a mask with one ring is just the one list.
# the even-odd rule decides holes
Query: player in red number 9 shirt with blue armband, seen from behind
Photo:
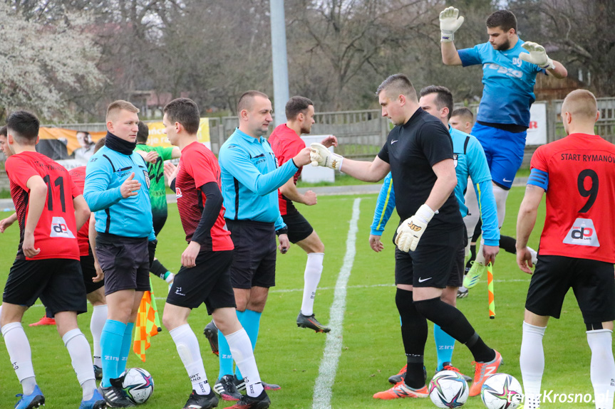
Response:
[{"label": "player in red number 9 shirt with blue armband, seen from behind", "polygon": [[[611,333],[615,319],[615,145],[594,134],[596,98],[571,92],[562,104],[568,136],[539,147],[517,219],[517,264],[531,274],[527,239],[547,192],[547,214],[536,270],[525,302],[521,373],[526,408],[538,407],[549,317],[559,318],[572,287],[591,349],[591,383],[596,408],[612,409],[615,361]],[[606,400],[604,399],[606,397]]]}]

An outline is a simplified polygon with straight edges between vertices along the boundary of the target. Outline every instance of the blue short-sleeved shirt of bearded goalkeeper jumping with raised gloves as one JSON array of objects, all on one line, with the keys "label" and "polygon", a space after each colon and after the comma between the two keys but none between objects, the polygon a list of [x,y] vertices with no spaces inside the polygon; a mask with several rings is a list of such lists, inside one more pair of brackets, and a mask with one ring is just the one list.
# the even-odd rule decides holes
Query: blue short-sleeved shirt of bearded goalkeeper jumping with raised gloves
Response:
[{"label": "blue short-sleeved shirt of bearded goalkeeper jumping with raised gloves", "polygon": [[496,124],[516,124],[529,127],[529,107],[536,96],[537,73],[546,73],[538,65],[519,58],[527,53],[519,38],[510,50],[495,50],[490,43],[459,50],[464,67],[482,64],[482,99],[476,119]]}]

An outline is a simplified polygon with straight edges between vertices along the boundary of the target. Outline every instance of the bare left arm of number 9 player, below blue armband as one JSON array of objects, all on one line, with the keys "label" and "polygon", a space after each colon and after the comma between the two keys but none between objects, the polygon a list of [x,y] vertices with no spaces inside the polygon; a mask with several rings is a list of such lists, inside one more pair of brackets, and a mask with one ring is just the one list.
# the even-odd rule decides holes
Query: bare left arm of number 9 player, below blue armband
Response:
[{"label": "bare left arm of number 9 player, below blue armband", "polygon": [[525,195],[519,208],[519,216],[517,216],[517,265],[523,272],[532,274],[532,255],[527,249],[527,240],[534,229],[538,206],[542,201],[544,189],[535,185],[527,185],[525,187]]}]

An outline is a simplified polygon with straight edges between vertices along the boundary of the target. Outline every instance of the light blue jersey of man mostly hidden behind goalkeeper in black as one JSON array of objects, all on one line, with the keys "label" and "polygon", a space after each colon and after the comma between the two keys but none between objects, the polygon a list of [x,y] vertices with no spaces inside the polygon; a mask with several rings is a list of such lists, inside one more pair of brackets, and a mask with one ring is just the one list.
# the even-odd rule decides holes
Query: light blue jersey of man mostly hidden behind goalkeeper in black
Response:
[{"label": "light blue jersey of man mostly hidden behind goalkeeper in black", "polygon": [[[480,143],[472,135],[449,127],[451,139],[453,139],[453,161],[455,161],[455,173],[457,174],[457,186],[455,186],[455,198],[459,202],[461,216],[467,215],[465,206],[465,190],[467,177],[472,179],[472,186],[476,192],[482,217],[482,235],[485,245],[500,245],[500,229],[497,228],[497,211],[495,197],[491,184],[491,174],[485,152]],[[371,234],[382,235],[384,226],[391,218],[395,208],[395,191],[391,173],[385,177],[384,184],[378,194],[376,210],[371,223]]]}]

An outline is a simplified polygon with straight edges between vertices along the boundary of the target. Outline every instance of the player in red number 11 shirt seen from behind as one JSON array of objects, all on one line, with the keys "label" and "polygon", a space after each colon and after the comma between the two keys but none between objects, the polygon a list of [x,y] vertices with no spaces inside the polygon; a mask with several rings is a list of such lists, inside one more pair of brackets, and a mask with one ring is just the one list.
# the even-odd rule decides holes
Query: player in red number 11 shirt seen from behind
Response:
[{"label": "player in red number 11 shirt seen from behind", "polygon": [[9,116],[7,142],[14,153],[6,159],[21,237],[16,260],[4,287],[0,315],[2,336],[11,363],[24,389],[16,408],[45,403],[36,385],[30,344],[21,319],[38,297],[56,317],[58,332],[71,355],[83,388],[81,408],[101,408],[105,401],[96,390],[90,345],[77,326],[77,314],[86,312],[77,225],[90,209],[68,171],[36,152],[38,119],[29,112]]}]

